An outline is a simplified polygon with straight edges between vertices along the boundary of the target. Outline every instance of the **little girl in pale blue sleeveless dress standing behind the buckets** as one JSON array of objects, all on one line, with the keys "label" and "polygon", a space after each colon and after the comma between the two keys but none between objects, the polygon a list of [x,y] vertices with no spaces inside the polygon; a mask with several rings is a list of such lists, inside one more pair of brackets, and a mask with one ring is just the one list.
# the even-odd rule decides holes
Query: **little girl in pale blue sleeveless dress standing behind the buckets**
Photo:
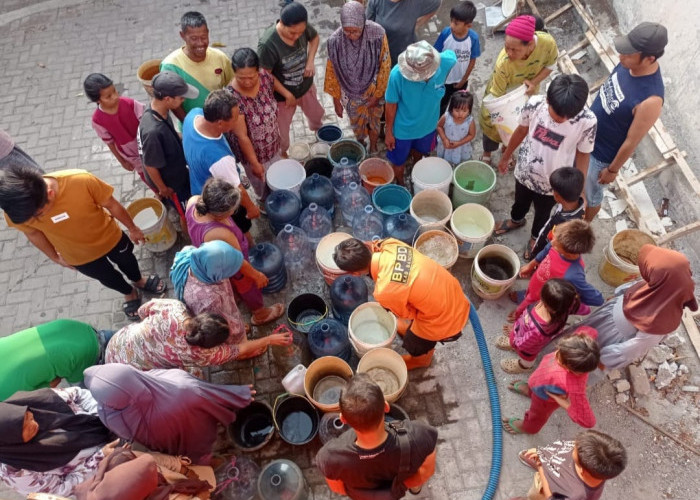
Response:
[{"label": "little girl in pale blue sleeveless dress standing behind the buckets", "polygon": [[467,90],[452,94],[447,113],[438,120],[437,155],[453,165],[472,159],[471,141],[476,136],[472,118],[474,96]]}]

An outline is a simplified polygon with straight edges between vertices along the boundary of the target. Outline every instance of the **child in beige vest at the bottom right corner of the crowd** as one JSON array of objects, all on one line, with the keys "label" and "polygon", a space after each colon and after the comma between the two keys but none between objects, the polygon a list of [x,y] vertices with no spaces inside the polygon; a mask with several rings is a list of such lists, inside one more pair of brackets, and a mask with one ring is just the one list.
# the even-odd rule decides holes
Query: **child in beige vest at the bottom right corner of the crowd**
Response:
[{"label": "child in beige vest at the bottom right corner of the crowd", "polygon": [[[598,500],[605,481],[627,466],[627,451],[617,439],[587,430],[574,441],[555,441],[518,453],[520,461],[535,469],[529,500],[571,498]],[[525,500],[519,497],[518,500]]]}]

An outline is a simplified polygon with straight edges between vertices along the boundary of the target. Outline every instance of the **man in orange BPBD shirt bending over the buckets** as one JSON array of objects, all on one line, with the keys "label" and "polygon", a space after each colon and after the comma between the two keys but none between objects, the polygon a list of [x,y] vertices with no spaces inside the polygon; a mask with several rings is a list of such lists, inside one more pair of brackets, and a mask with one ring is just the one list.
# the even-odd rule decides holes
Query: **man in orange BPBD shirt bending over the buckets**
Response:
[{"label": "man in orange BPBD shirt bending over the buckets", "polygon": [[469,300],[459,281],[437,262],[393,238],[372,251],[351,238],[336,246],[336,265],[374,281],[374,299],[399,318],[412,320],[403,347],[409,370],[430,366],[438,342],[452,342],[469,321]]}]

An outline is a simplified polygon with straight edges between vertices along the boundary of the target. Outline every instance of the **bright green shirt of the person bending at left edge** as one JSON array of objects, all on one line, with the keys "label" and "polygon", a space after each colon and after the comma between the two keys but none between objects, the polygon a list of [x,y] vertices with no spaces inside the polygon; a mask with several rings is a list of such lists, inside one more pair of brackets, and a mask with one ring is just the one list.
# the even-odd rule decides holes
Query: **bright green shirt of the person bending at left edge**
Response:
[{"label": "bright green shirt of the person bending at left edge", "polygon": [[0,338],[0,401],[48,387],[56,377],[75,384],[97,362],[100,346],[86,323],[59,319]]}]

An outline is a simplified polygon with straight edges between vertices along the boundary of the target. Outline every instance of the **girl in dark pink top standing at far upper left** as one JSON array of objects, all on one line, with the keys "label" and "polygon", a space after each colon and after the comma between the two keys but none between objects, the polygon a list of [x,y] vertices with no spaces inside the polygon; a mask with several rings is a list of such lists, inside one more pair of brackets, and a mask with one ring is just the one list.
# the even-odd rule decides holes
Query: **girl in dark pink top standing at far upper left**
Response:
[{"label": "girl in dark pink top standing at far upper left", "polygon": [[[136,143],[144,105],[120,96],[112,80],[101,73],[89,74],[83,82],[83,89],[88,99],[97,103],[97,109],[92,114],[92,128],[97,132],[97,136],[107,144],[125,170],[136,170],[143,182],[151,187],[144,175]],[[158,191],[154,191],[158,194]]]}]

